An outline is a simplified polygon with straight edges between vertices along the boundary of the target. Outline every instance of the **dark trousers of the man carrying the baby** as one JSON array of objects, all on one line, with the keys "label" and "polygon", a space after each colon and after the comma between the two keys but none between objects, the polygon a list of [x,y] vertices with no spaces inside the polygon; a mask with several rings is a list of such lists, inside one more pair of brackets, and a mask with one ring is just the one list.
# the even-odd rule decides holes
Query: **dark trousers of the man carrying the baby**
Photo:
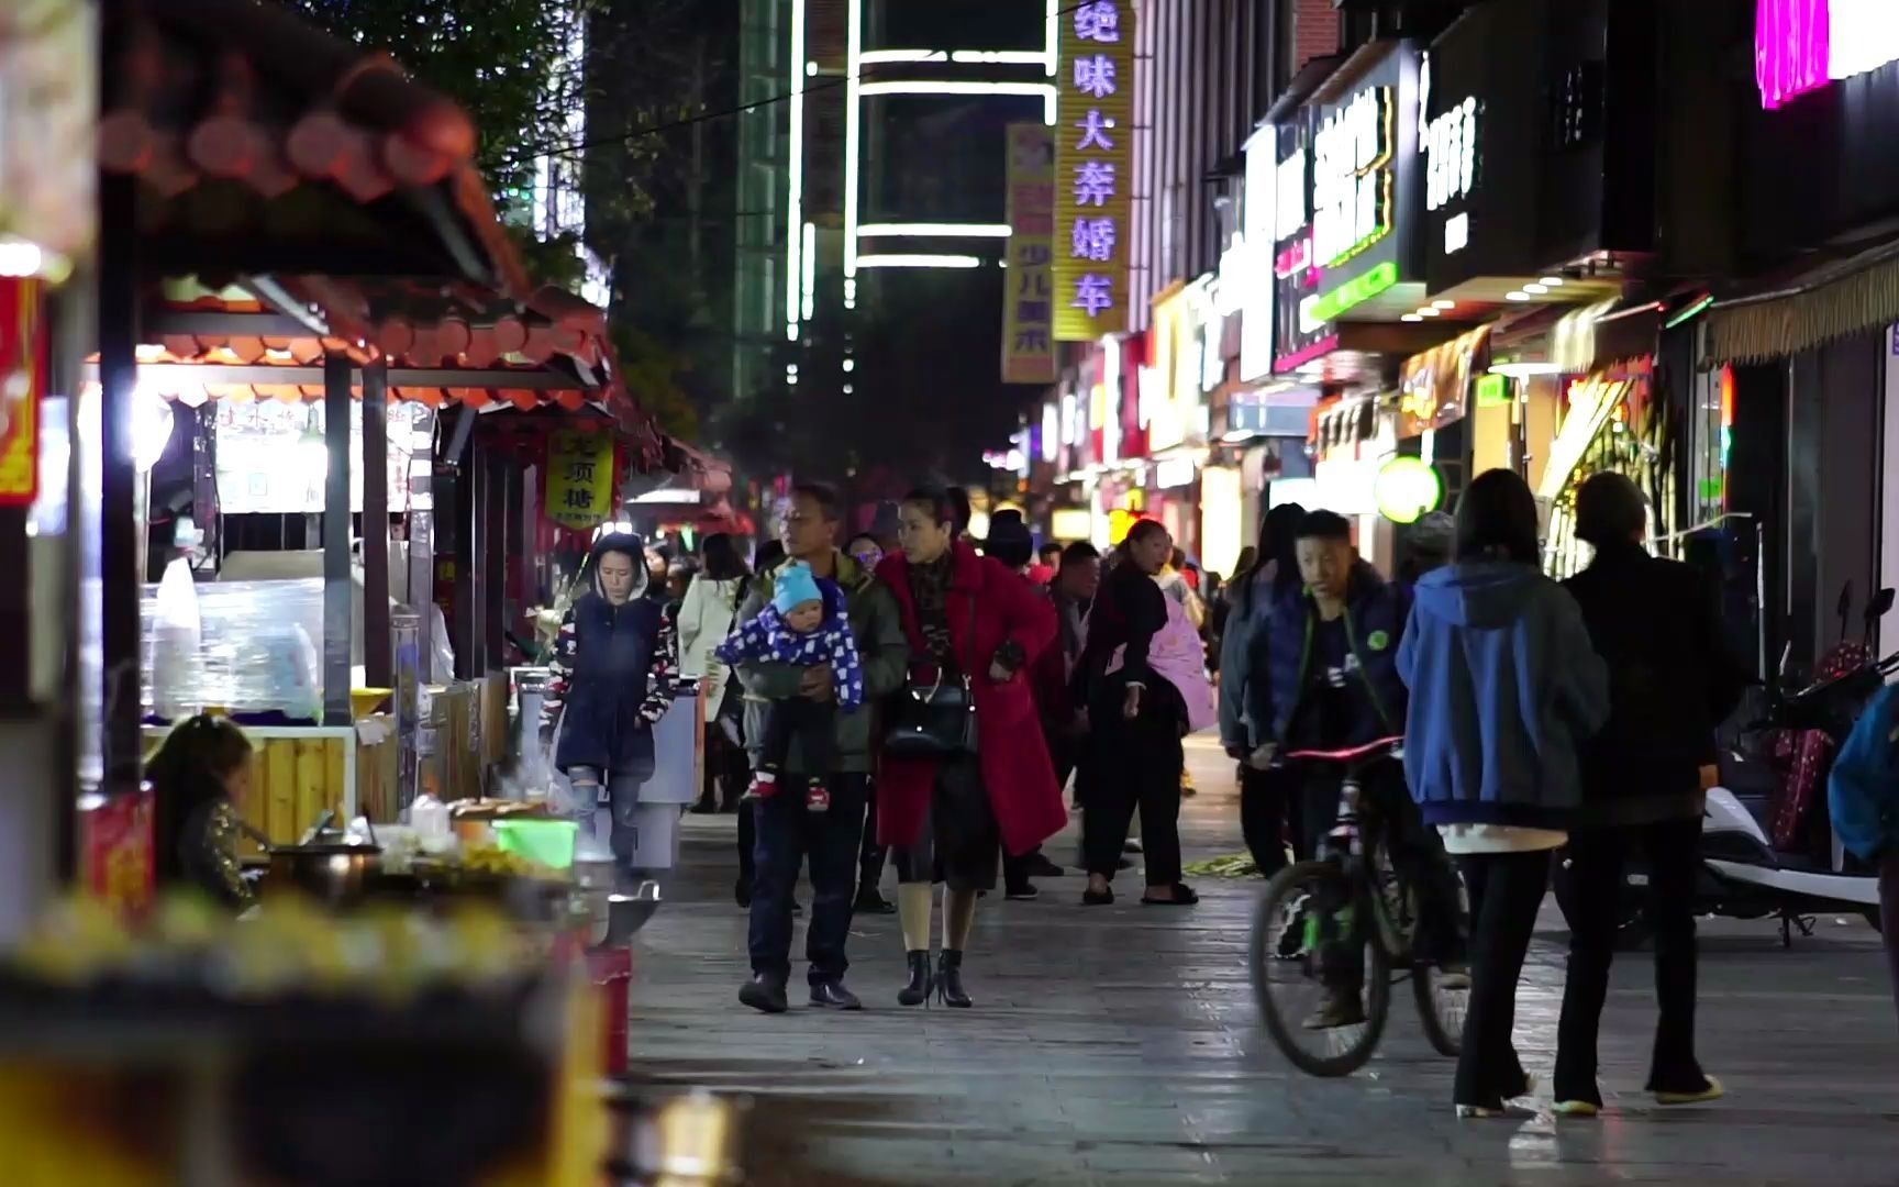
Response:
[{"label": "dark trousers of the man carrying the baby", "polygon": [[811,862],[811,925],[805,959],[811,984],[843,980],[851,963],[851,902],[856,895],[856,847],[864,828],[866,775],[832,775],[830,811],[813,813],[801,798],[771,796],[752,801],[758,830],[752,877],[752,972],[788,978],[792,970],[792,893],[798,868]]}]

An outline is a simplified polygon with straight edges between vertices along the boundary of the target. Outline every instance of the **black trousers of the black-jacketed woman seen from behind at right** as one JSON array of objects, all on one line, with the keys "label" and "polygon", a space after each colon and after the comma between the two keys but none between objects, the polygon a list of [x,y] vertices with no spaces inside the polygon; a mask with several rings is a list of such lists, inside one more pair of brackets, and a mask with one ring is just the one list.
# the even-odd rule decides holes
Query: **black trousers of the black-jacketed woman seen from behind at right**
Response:
[{"label": "black trousers of the black-jacketed woman seen from behind at right", "polygon": [[1589,828],[1569,836],[1574,917],[1569,921],[1569,980],[1557,1027],[1555,1098],[1601,1103],[1595,1086],[1595,1033],[1608,995],[1622,866],[1631,849],[1648,858],[1643,904],[1656,944],[1656,1045],[1648,1090],[1698,1092],[1694,1060],[1694,879],[1702,864],[1702,817],[1637,828]]}]

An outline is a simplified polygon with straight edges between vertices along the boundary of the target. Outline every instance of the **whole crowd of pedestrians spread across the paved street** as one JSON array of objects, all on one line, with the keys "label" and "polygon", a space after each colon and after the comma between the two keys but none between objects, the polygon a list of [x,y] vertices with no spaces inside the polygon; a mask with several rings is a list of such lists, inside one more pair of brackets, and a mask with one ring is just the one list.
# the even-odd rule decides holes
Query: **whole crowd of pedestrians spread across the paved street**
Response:
[{"label": "whole crowd of pedestrians spread across the paved street", "polygon": [[[708,537],[684,579],[636,537],[596,545],[556,646],[555,712],[564,699],[581,725],[558,762],[577,790],[617,803],[615,784],[651,763],[678,665],[705,689],[699,809],[739,811],[741,1001],[790,1005],[803,872],[811,1005],[860,1008],[845,988],[851,917],[894,912],[908,961],[896,1001],[967,1008],[978,900],[999,883],[1033,898],[1031,877],[1063,872],[1041,847],[1067,822],[1065,788],[1082,813],[1081,902],[1113,902],[1138,851],[1139,900],[1179,908],[1198,898],[1179,847],[1189,733],[1217,725],[1238,763],[1242,832],[1267,877],[1320,853],[1335,820],[1337,763],[1301,756],[1401,739],[1401,765],[1373,769],[1362,796],[1417,895],[1415,953],[1470,988],[1457,1111],[1493,1115],[1532,1086],[1512,1026],[1555,849],[1580,904],[1557,1111],[1601,1107],[1597,1020],[1631,855],[1650,872],[1656,936],[1648,1090],[1713,1100],[1722,1086],[1694,1054],[1690,881],[1715,727],[1743,678],[1696,572],[1643,549],[1631,482],[1591,479],[1574,518],[1595,556],[1559,585],[1540,564],[1534,498],[1491,471],[1455,518],[1409,530],[1386,579],[1346,518],[1278,505],[1221,587],[1155,520],[1109,555],[1037,551],[1008,513],[974,539],[955,490],[915,490],[887,534],[837,547],[837,498],[799,484],[750,568],[727,536]],[[879,893],[887,855],[894,904]],[[1307,1027],[1362,1024],[1362,982],[1356,957],[1327,961]]]}]

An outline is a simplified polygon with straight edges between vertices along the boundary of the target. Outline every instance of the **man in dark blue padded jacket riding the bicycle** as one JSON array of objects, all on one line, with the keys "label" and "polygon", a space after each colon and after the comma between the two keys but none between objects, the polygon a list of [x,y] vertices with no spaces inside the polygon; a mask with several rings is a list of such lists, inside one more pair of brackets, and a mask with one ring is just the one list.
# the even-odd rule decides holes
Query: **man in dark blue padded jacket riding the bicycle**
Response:
[{"label": "man in dark blue padded jacket riding the bicycle", "polygon": [[[1398,640],[1409,606],[1403,593],[1384,581],[1352,547],[1352,528],[1331,511],[1312,511],[1295,532],[1303,587],[1288,589],[1274,602],[1259,632],[1255,670],[1265,680],[1248,686],[1248,722],[1253,752],[1248,763],[1265,769],[1289,750],[1344,750],[1403,731],[1405,686],[1398,678]],[[1320,763],[1303,771],[1295,798],[1293,849],[1299,860],[1318,855],[1339,809],[1344,771]],[[1360,796],[1382,820],[1392,864],[1419,895],[1417,950],[1426,963],[1460,957],[1457,883],[1434,832],[1419,819],[1405,792],[1403,771],[1379,763],[1363,773]],[[1331,934],[1331,912],[1343,904],[1316,904],[1320,934]],[[1358,1026],[1363,951],[1358,944],[1331,944],[1320,969],[1326,997],[1307,1018],[1308,1029]]]}]

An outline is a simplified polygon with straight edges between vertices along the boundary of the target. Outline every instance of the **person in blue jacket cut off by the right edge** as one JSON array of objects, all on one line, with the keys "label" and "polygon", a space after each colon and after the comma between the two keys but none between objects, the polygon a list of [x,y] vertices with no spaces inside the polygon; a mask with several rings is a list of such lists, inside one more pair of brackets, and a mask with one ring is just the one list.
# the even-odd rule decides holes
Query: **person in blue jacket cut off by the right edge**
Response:
[{"label": "person in blue jacket cut off by the right edge", "polygon": [[1827,777],[1827,813],[1846,851],[1880,872],[1880,931],[1899,1005],[1899,686],[1859,714]]}]

